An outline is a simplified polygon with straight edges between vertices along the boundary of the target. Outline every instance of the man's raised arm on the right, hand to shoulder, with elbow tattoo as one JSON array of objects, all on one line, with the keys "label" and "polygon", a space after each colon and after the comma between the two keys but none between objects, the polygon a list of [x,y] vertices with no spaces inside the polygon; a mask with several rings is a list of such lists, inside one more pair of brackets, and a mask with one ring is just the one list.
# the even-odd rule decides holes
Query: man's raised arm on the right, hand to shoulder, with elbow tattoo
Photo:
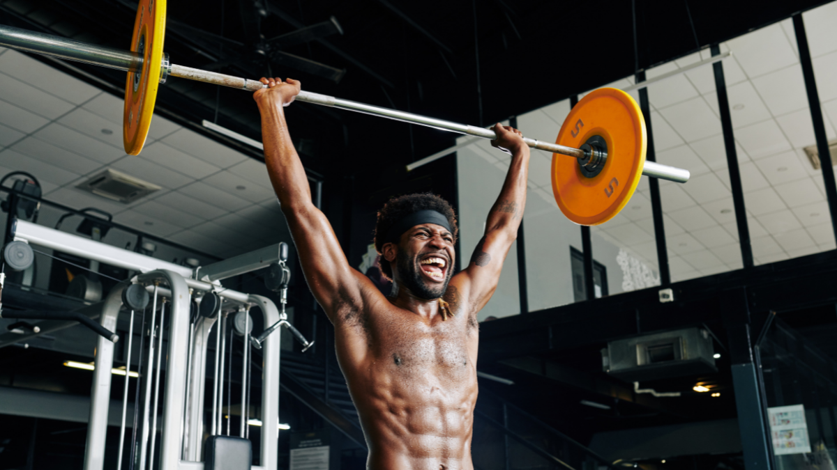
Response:
[{"label": "man's raised arm on the right, hand to shoulder, with elbow tattoo", "polygon": [[497,133],[497,139],[491,140],[491,145],[510,153],[511,165],[468,268],[460,274],[460,279],[451,280],[459,293],[470,299],[475,312],[482,309],[494,294],[503,261],[511,243],[517,238],[517,227],[520,227],[523,207],[526,206],[526,182],[529,177],[529,146],[523,142],[521,132],[499,123],[492,129]]}]

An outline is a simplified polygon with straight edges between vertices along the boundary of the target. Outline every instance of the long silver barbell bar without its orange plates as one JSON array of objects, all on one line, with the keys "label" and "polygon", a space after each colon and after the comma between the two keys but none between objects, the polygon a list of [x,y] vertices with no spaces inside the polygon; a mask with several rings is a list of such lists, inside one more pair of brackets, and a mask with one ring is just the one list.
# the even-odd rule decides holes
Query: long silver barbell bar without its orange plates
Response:
[{"label": "long silver barbell bar without its orange plates", "polygon": [[[61,38],[51,34],[37,33],[21,28],[13,28],[0,25],[0,46],[10,49],[18,49],[33,54],[48,55],[59,59],[73,60],[84,64],[98,65],[109,69],[124,70],[126,72],[137,72],[142,69],[143,57],[136,52],[121,49],[107,48],[95,44],[81,43],[68,38]],[[259,80],[243,79],[233,75],[218,74],[208,70],[193,69],[182,65],[171,64],[168,59],[163,59],[161,64],[160,82],[165,83],[167,77],[178,77],[191,79],[208,84],[217,84],[235,89],[256,91],[265,88]],[[296,100],[324,105],[340,110],[355,111],[367,115],[376,115],[390,120],[399,120],[410,124],[424,125],[439,130],[448,130],[458,134],[473,135],[483,139],[496,139],[493,130],[485,129],[475,125],[465,125],[449,120],[440,120],[424,115],[416,115],[399,110],[383,108],[381,106],[366,105],[352,100],[343,100],[334,96],[321,95],[311,91],[300,91]],[[589,159],[590,150],[581,150],[569,146],[561,146],[551,142],[524,137],[527,146],[549,151],[555,154],[572,156],[583,160]],[[686,182],[689,180],[688,170],[675,166],[661,165],[654,161],[644,161],[642,174],[669,181]]]}]

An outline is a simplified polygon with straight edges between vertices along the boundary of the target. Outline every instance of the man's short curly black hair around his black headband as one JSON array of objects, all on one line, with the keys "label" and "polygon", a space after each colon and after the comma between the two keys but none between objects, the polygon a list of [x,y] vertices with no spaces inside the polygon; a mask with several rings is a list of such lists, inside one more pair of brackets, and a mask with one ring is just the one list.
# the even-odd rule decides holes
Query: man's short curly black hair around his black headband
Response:
[{"label": "man's short curly black hair around his black headband", "polygon": [[[382,254],[383,243],[385,243],[383,238],[387,236],[390,227],[393,227],[402,217],[408,216],[413,212],[424,211],[425,209],[439,212],[448,218],[450,227],[454,232],[455,241],[459,235],[460,227],[456,224],[454,207],[442,199],[442,197],[429,192],[408,194],[406,196],[393,197],[377,212],[377,222],[375,223],[375,249],[377,253]],[[387,260],[382,256],[379,258],[378,263],[383,275],[392,280],[393,268],[387,263]]]}]

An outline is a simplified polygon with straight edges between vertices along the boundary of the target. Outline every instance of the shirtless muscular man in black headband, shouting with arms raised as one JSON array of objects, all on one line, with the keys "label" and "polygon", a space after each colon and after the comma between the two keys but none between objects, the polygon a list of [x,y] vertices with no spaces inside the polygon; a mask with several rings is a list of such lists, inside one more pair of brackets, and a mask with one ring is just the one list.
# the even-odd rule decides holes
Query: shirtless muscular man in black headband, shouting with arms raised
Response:
[{"label": "shirtless muscular man in black headband, shouting with arms raised", "polygon": [[378,212],[375,246],[393,280],[385,297],[349,266],[326,216],[311,202],[284,106],[300,82],[261,79],[254,94],[270,181],[290,226],[308,286],[334,324],[337,359],[357,406],[370,470],[472,470],[477,396],[476,315],[494,294],[526,203],[529,147],[496,125],[493,146],[512,155],[500,197],[468,267],[454,275],[454,211],[413,194]]}]

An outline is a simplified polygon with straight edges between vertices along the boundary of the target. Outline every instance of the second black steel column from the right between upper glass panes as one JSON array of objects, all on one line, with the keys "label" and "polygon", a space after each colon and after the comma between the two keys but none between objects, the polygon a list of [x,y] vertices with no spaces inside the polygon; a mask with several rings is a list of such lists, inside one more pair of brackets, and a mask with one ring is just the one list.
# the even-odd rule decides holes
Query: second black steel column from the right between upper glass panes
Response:
[{"label": "second black steel column from the right between upper glass panes", "polygon": [[[712,46],[712,55],[721,54],[721,48]],[[718,110],[721,111],[721,130],[724,133],[724,146],[727,148],[727,166],[732,186],[732,206],[735,207],[735,219],[738,225],[738,242],[741,245],[741,260],[744,268],[752,268],[752,246],[750,245],[750,227],[747,226],[747,209],[744,208],[744,190],[741,184],[741,170],[738,168],[738,155],[735,148],[735,136],[732,135],[732,115],[727,98],[727,80],[724,79],[724,65],[719,60],[712,64],[715,69],[715,88],[718,94]]]}]

